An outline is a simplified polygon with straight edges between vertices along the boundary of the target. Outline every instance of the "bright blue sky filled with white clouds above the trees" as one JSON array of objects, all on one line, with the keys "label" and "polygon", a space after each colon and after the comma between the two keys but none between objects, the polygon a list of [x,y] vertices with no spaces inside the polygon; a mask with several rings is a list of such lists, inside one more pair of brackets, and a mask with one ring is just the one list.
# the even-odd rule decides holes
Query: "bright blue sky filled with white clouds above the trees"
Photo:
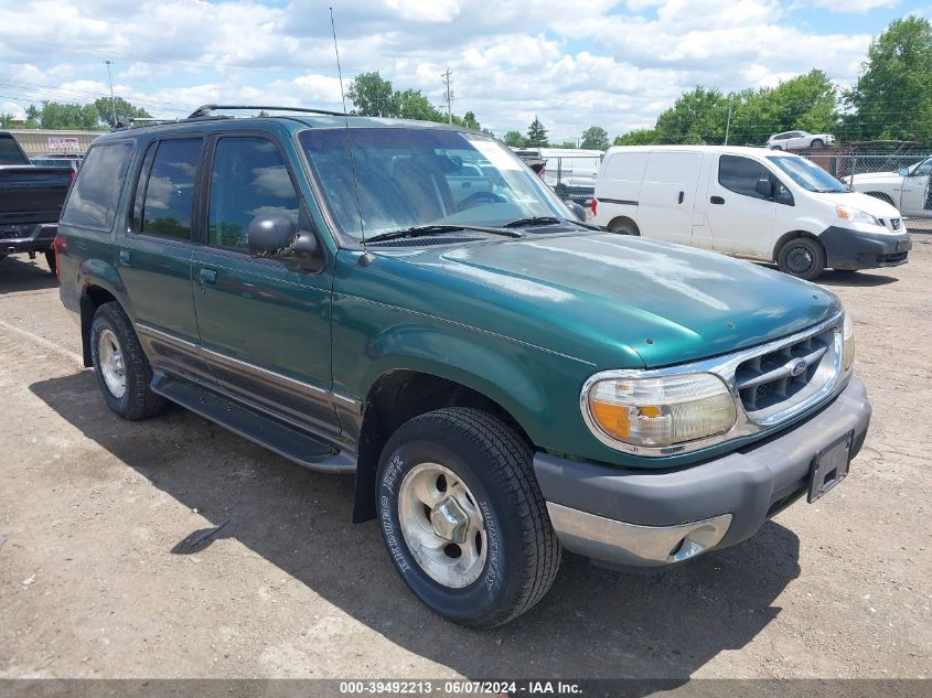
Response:
[{"label": "bright blue sky filled with white clouds above the trees", "polygon": [[652,126],[697,84],[773,85],[813,67],[839,83],[871,37],[932,0],[2,0],[0,109],[114,90],[157,116],[205,103],[340,107],[328,6],[345,79],[379,71],[497,135],[534,115],[551,140],[590,125]]}]

